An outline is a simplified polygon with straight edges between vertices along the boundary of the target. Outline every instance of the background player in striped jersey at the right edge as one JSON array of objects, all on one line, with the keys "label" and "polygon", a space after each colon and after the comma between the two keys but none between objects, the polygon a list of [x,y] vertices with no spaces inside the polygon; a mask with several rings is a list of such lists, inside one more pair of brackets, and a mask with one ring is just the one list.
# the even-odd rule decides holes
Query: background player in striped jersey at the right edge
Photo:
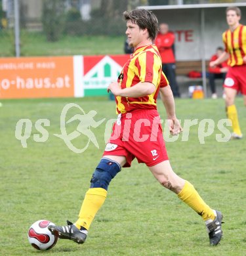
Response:
[{"label": "background player in striped jersey at the right edge", "polygon": [[226,113],[232,121],[232,139],[243,137],[237,117],[237,108],[234,104],[237,93],[241,92],[246,106],[246,26],[239,23],[240,19],[241,10],[238,7],[226,9],[229,29],[222,35],[225,51],[215,61],[210,62],[210,66],[214,67],[229,58],[229,69],[223,86]]}]

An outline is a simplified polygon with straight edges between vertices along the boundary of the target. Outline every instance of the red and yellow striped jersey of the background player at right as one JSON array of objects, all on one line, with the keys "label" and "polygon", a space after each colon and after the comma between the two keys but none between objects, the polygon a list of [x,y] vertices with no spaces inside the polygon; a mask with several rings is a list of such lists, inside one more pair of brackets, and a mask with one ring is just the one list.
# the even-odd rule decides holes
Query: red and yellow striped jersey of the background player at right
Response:
[{"label": "red and yellow striped jersey of the background player at right", "polygon": [[230,54],[229,66],[240,66],[245,64],[243,57],[246,55],[246,26],[239,24],[236,30],[226,30],[222,34],[225,51]]}]

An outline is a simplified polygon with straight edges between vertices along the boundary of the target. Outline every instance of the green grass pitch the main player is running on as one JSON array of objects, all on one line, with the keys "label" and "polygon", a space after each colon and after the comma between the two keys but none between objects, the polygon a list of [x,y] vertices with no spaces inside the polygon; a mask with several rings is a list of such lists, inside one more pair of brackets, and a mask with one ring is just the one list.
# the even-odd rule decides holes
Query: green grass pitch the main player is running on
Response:
[{"label": "green grass pitch the main player is running on", "polygon": [[[177,196],[162,188],[150,171],[134,161],[113,179],[108,198],[91,225],[87,242],[77,245],[59,240],[51,251],[36,251],[28,243],[32,223],[48,219],[58,225],[66,219],[77,220],[83,196],[92,172],[104,150],[105,123],[91,129],[100,146],[94,144],[81,154],[68,149],[55,137],[60,133],[60,113],[67,103],[75,102],[88,113],[96,110],[94,119],[115,118],[114,102],[108,98],[61,98],[39,100],[2,100],[0,108],[0,255],[246,255],[246,139],[217,142],[213,135],[200,144],[197,127],[190,129],[188,142],[181,137],[167,142],[174,171],[188,179],[205,201],[224,214],[224,239],[209,246],[205,225],[192,209]],[[242,98],[237,98],[239,119],[246,135],[246,115]],[[161,117],[165,111],[158,105]],[[225,117],[224,102],[218,100],[176,100],[178,117],[210,118],[218,123]],[[71,110],[70,115],[77,113]],[[27,148],[15,138],[19,119],[33,123]],[[45,127],[49,139],[35,142],[37,119],[49,119]],[[77,122],[68,127],[75,131]],[[187,132],[187,131],[186,131]],[[74,140],[85,146],[85,136]]]}]

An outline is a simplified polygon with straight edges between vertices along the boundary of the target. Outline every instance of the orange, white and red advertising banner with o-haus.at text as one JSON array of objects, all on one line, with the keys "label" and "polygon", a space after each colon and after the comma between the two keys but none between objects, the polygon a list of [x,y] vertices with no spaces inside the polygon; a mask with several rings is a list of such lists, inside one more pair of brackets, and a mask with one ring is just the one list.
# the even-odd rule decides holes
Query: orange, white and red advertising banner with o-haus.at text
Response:
[{"label": "orange, white and red advertising banner with o-haus.at text", "polygon": [[0,98],[108,95],[129,54],[0,58]]}]

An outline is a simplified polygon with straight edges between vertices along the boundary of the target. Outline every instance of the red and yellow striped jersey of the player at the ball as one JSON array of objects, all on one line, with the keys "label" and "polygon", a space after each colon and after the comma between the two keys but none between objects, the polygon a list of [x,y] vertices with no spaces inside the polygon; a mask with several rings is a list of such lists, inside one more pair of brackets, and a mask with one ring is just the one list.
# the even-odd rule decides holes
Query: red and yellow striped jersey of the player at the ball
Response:
[{"label": "red and yellow striped jersey of the player at the ball", "polygon": [[150,82],[156,89],[152,95],[140,98],[117,96],[115,98],[117,114],[140,108],[156,109],[159,88],[169,84],[161,66],[161,56],[155,45],[139,47],[131,54],[131,58],[123,66],[117,80],[121,88],[133,87],[139,82]]}]

